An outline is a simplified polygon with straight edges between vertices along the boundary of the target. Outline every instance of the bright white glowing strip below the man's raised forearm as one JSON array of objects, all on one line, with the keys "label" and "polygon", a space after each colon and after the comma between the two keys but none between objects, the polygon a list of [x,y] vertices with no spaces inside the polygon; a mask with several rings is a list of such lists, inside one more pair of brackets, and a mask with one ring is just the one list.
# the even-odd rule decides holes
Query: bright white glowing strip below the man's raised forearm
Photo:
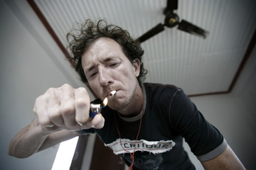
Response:
[{"label": "bright white glowing strip below the man's raised forearm", "polygon": [[69,170],[75,153],[75,147],[78,143],[78,137],[60,143],[58,152],[53,162],[51,170]]}]

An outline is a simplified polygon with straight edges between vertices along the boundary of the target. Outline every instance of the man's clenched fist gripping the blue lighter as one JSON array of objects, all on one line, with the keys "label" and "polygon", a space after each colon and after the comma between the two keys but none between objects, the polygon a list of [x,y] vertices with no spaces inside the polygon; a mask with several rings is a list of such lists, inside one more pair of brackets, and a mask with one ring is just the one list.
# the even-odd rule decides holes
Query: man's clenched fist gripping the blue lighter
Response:
[{"label": "man's clenched fist gripping the blue lighter", "polygon": [[33,109],[38,125],[46,132],[102,128],[105,119],[100,113],[89,118],[90,97],[85,88],[73,89],[69,84],[50,88],[36,98]]}]

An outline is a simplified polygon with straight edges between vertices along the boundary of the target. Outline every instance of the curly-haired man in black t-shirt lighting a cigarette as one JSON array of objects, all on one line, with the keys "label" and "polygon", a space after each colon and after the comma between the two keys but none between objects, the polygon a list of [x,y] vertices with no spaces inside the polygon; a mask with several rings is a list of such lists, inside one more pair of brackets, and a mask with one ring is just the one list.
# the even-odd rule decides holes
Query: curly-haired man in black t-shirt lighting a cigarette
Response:
[{"label": "curly-haired man in black t-shirt lighting a cigarette", "polygon": [[[68,59],[82,81],[107,107],[89,118],[84,88],[68,84],[36,98],[36,119],[18,132],[9,154],[29,157],[72,137],[97,133],[129,169],[195,169],[183,149],[185,138],[205,169],[244,169],[223,135],[176,86],[142,84],[143,50],[127,31],[87,20],[80,34],[68,33]],[[114,96],[109,96],[116,91]]]}]

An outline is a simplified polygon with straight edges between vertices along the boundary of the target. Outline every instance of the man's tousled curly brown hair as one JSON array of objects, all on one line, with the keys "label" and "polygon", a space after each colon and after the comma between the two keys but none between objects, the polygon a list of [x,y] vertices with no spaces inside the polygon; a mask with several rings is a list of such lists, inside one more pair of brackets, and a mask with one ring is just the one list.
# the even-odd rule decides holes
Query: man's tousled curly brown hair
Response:
[{"label": "man's tousled curly brown hair", "polygon": [[73,28],[70,30],[66,37],[68,40],[67,50],[70,50],[72,53],[71,56],[67,55],[66,57],[75,68],[75,71],[80,75],[82,82],[87,84],[85,72],[82,68],[82,55],[87,47],[90,47],[95,40],[102,37],[112,38],[118,42],[124,51],[124,55],[126,55],[131,63],[136,59],[139,60],[141,65],[140,74],[137,79],[139,84],[142,85],[147,70],[144,69],[143,66],[142,55],[144,54],[144,50],[142,50],[140,42],[134,40],[127,30],[124,30],[119,26],[109,25],[105,20],[97,21],[95,24],[90,19],[86,20],[85,23],[80,24],[80,28]]}]

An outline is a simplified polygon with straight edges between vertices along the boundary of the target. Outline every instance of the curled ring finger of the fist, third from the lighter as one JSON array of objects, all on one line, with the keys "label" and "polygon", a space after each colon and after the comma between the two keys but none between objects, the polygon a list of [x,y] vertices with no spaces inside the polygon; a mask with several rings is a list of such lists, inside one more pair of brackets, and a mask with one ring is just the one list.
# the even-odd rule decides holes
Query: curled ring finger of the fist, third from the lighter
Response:
[{"label": "curled ring finger of the fist, third from the lighter", "polygon": [[[50,122],[53,125],[61,126],[64,125],[64,121],[62,115],[60,113],[60,100],[59,100],[59,93],[58,89],[49,89],[46,93],[47,96],[47,113]],[[51,125],[47,125],[50,127]]]}]

